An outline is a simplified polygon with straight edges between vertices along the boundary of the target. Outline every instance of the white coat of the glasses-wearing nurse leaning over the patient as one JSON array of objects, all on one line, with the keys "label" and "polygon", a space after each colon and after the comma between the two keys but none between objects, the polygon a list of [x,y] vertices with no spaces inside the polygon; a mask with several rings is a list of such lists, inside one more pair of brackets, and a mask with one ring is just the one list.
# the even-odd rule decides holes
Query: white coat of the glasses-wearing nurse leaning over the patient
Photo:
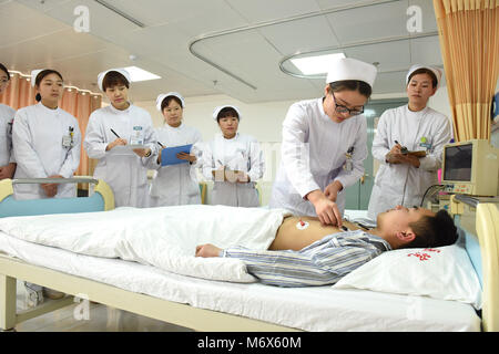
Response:
[{"label": "white coat of the glasses-wearing nurse leaning over the patient", "polygon": [[[282,159],[272,196],[271,208],[285,208],[297,216],[314,216],[315,207],[304,199],[316,189],[324,189],[334,180],[342,183],[336,204],[345,210],[344,190],[364,175],[367,157],[367,123],[364,115],[342,123],[333,122],[325,113],[323,98],[294,103],[283,123]],[[347,150],[354,147],[353,170],[343,168]]]}]

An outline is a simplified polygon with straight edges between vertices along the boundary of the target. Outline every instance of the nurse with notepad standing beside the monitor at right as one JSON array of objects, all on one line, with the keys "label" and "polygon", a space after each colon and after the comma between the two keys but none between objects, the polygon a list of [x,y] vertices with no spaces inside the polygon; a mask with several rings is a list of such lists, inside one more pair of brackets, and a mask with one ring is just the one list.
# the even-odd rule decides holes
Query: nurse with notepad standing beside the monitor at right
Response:
[{"label": "nurse with notepad standing beside the monitor at right", "polygon": [[[373,156],[380,166],[369,200],[368,217],[401,205],[420,206],[425,191],[438,181],[444,145],[451,138],[450,121],[427,106],[440,83],[441,73],[431,66],[413,65],[406,76],[407,105],[387,110],[379,118]],[[398,143],[396,143],[396,140]],[[401,154],[426,150],[417,158]]]}]

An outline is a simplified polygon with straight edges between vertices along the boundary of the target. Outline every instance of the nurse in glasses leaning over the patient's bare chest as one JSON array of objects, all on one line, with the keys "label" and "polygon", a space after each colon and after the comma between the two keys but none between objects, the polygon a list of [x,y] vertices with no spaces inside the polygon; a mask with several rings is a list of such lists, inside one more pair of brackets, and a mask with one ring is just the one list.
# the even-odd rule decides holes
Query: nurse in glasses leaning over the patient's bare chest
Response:
[{"label": "nurse in glasses leaning over the patient's bare chest", "polygon": [[324,96],[294,103],[287,112],[269,206],[342,226],[343,190],[364,175],[367,123],[361,113],[376,67],[350,58],[330,67]]}]

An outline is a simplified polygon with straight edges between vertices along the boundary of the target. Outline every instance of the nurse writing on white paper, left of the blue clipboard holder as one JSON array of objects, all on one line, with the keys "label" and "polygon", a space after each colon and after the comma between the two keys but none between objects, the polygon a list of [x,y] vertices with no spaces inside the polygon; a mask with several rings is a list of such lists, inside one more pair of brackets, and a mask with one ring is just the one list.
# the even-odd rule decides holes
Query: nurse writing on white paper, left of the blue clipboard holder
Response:
[{"label": "nurse writing on white paper, left of the blue clipboard holder", "polygon": [[[156,137],[151,115],[129,102],[130,74],[124,69],[111,69],[98,76],[99,88],[111,104],[92,112],[83,147],[90,158],[99,159],[93,173],[114,194],[115,207],[149,206],[149,159],[156,154]],[[125,145],[142,145],[133,152]]]}]

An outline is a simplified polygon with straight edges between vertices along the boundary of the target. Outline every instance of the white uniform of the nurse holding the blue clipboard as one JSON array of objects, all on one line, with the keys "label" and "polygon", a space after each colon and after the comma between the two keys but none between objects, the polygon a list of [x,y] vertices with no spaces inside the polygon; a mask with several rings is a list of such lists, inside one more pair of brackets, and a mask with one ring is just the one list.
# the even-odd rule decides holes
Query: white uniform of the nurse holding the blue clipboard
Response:
[{"label": "white uniform of the nurse holding the blue clipboard", "polygon": [[194,164],[189,162],[179,165],[163,166],[157,164],[157,158],[151,160],[149,166],[156,169],[157,174],[151,185],[151,207],[180,206],[187,204],[201,204],[200,185],[197,184],[196,168],[201,166],[202,136],[194,127],[181,124],[172,127],[167,124],[155,128],[156,138],[164,147],[174,147],[193,144],[191,154],[197,160]]}]

